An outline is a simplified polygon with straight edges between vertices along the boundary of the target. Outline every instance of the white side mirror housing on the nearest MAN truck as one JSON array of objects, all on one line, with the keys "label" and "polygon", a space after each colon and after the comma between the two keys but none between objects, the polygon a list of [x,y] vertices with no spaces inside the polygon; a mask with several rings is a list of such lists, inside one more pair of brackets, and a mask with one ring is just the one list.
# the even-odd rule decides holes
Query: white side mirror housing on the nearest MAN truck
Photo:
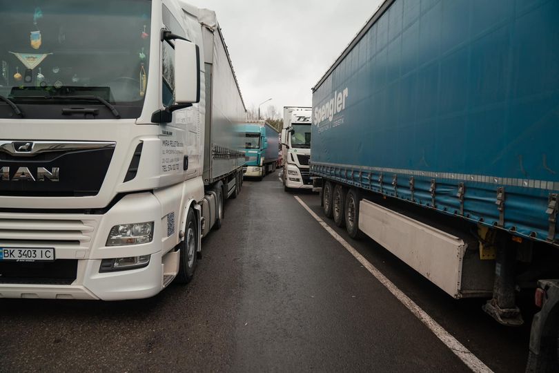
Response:
[{"label": "white side mirror housing on the nearest MAN truck", "polygon": [[175,102],[200,102],[200,50],[190,41],[175,40]]}]

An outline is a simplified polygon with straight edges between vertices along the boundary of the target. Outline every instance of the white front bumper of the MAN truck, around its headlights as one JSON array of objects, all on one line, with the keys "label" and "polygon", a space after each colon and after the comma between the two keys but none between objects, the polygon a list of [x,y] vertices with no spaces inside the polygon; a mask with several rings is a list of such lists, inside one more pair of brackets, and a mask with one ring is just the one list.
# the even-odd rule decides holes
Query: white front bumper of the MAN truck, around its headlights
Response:
[{"label": "white front bumper of the MAN truck, around its headlights", "polygon": [[[159,216],[161,204],[152,193],[126,195],[104,215],[0,213],[0,247],[53,247],[55,261],[76,266],[75,279],[70,278],[68,285],[35,278],[22,267],[22,278],[0,276],[0,297],[124,300],[154,296],[164,288],[162,224],[155,218]],[[105,246],[116,224],[154,220],[152,242]],[[99,272],[102,259],[144,255],[150,255],[147,267]]]}]

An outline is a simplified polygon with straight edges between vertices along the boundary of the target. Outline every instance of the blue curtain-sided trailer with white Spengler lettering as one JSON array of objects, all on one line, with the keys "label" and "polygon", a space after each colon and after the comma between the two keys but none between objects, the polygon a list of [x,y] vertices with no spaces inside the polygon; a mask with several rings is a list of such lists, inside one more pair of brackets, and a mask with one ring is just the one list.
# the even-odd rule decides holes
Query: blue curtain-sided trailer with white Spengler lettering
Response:
[{"label": "blue curtain-sided trailer with white Spengler lettering", "polygon": [[535,291],[527,371],[559,372],[559,1],[385,0],[312,123],[325,215],[503,325]]}]

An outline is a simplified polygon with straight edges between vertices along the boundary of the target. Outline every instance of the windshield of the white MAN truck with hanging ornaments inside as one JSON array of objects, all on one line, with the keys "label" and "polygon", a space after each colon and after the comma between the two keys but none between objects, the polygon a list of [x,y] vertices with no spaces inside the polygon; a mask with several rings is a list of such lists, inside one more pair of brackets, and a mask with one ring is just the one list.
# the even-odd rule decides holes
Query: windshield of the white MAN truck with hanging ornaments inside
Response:
[{"label": "windshield of the white MAN truck with hanging ornaments inside", "polygon": [[0,0],[0,95],[94,95],[140,105],[148,0]]}]

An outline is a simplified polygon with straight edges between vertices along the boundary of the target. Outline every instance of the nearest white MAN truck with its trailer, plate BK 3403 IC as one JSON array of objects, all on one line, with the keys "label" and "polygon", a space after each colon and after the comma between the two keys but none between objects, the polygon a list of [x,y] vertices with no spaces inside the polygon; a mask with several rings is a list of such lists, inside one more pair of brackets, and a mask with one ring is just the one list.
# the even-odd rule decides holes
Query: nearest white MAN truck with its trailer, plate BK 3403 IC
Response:
[{"label": "nearest white MAN truck with its trailer, plate BK 3403 IC", "polygon": [[1,1],[0,19],[0,297],[187,283],[244,164],[246,108],[215,13],[22,0]]}]

